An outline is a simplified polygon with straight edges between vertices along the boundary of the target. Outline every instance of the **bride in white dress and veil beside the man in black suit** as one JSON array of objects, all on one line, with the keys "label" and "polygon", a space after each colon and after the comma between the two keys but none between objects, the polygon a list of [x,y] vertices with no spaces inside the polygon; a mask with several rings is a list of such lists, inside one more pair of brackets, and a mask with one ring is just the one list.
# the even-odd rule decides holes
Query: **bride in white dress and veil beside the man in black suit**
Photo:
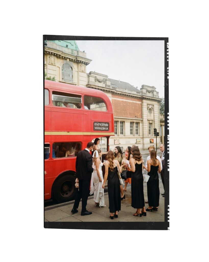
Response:
[{"label": "bride in white dress and veil beside the man in black suit", "polygon": [[97,149],[94,151],[93,154],[93,165],[94,172],[91,175],[91,190],[90,195],[94,193],[94,201],[95,206],[103,206],[105,207],[105,196],[104,196],[104,189],[102,188],[102,184],[104,182],[103,175],[102,175],[102,166],[100,157],[102,156],[102,151]]}]

